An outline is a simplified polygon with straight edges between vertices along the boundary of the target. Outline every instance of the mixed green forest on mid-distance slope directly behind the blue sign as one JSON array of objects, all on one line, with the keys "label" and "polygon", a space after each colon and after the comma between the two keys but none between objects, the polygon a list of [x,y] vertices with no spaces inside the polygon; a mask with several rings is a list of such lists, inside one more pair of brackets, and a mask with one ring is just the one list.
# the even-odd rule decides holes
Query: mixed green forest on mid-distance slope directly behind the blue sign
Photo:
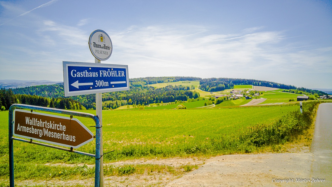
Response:
[{"label": "mixed green forest on mid-distance slope directly behind the blue sign", "polygon": [[[175,101],[187,101],[197,99],[198,92],[190,91],[189,86],[166,86],[154,88],[152,86],[133,86],[130,82],[130,90],[120,92],[103,93],[103,101],[111,101],[104,104],[107,108],[117,108],[127,104],[149,105],[150,103],[168,103]],[[12,89],[14,94],[38,95],[47,98],[64,97],[63,83],[54,85],[31,86]],[[95,94],[72,96],[71,99],[80,102],[87,109],[95,109]]]}]

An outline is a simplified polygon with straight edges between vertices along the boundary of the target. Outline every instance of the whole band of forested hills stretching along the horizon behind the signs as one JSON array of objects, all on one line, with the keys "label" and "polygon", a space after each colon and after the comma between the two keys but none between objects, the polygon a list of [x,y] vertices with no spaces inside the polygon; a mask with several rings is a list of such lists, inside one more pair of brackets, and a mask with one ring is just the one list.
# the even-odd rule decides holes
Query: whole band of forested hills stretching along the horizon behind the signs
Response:
[{"label": "whole band of forested hills stretching along the horizon behind the signs", "polygon": [[[293,85],[286,85],[276,82],[255,80],[255,79],[236,79],[236,78],[199,78],[199,77],[143,77],[131,78],[130,90],[121,92],[103,93],[103,108],[115,109],[124,105],[149,105],[150,103],[170,103],[177,101],[187,101],[188,99],[199,99],[199,93],[191,91],[193,86],[168,85],[162,88],[150,86],[156,83],[170,83],[178,81],[199,81],[199,88],[207,92],[217,92],[225,89],[233,89],[234,85],[254,85],[267,86],[272,88],[284,89],[287,92],[319,96],[328,95],[328,93],[307,88],[297,88]],[[24,95],[41,96],[51,99],[54,105],[59,108],[65,108],[67,105],[61,105],[59,101],[64,98],[63,82],[55,81],[21,81],[21,80],[0,80],[0,88],[12,88],[8,93],[17,94],[17,98],[27,97]],[[0,90],[3,91],[4,90]],[[4,92],[5,93],[5,92]],[[6,91],[7,93],[7,91]],[[1,95],[1,94],[0,94]],[[5,94],[3,94],[5,95]],[[23,95],[23,96],[22,96]],[[21,98],[22,99],[22,98]],[[71,96],[66,99],[71,103],[79,103],[87,109],[95,109],[95,94]],[[71,106],[69,100],[63,100]],[[4,101],[3,101],[4,103]],[[22,101],[22,103],[24,103]],[[26,103],[26,102],[25,102]],[[11,103],[13,104],[13,103]],[[30,103],[31,104],[31,103]],[[66,104],[66,103],[65,103]],[[50,103],[49,103],[50,105]],[[8,104],[10,106],[10,104]],[[7,107],[8,108],[8,107]],[[68,108],[68,107],[67,107]],[[69,107],[70,108],[70,107]],[[81,108],[81,107],[80,107]]]}]

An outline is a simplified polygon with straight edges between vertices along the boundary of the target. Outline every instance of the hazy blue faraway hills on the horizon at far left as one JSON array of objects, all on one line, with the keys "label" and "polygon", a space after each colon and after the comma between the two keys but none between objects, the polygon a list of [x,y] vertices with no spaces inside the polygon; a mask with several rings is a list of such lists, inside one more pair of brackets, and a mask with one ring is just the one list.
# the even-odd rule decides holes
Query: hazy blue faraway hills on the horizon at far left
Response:
[{"label": "hazy blue faraway hills on the horizon at far left", "polygon": [[61,82],[49,80],[0,80],[0,88],[22,88],[27,86],[51,85]]}]

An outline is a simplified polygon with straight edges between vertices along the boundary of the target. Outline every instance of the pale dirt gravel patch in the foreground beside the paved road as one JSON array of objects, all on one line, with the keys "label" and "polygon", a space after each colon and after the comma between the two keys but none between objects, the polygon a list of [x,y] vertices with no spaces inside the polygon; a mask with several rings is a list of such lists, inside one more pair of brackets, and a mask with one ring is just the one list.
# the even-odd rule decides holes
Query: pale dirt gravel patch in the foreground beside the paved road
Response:
[{"label": "pale dirt gravel patch in the foreground beside the paved road", "polygon": [[216,156],[166,186],[308,186],[308,182],[277,183],[276,180],[310,179],[312,159],[310,152]]}]

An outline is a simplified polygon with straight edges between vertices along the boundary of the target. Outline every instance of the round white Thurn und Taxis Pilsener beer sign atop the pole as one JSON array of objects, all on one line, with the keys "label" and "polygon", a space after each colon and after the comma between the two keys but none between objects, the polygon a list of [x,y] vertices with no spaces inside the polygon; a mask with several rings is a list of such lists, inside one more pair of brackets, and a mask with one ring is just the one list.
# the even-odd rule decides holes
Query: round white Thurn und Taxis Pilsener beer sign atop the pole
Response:
[{"label": "round white Thurn und Taxis Pilsener beer sign atop the pole", "polygon": [[112,54],[112,41],[103,30],[95,30],[89,38],[89,48],[98,60],[107,60]]}]

